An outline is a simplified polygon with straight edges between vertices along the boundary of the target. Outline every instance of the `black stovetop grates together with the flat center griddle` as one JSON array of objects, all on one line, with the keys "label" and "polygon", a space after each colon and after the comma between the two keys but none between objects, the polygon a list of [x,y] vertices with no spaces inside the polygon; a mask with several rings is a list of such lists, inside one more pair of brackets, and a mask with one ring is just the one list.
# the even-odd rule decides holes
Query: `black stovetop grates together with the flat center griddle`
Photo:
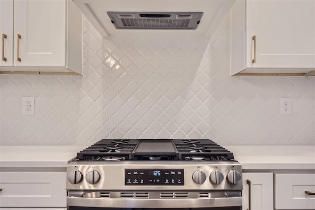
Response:
[{"label": "black stovetop grates together with the flat center griddle", "polygon": [[209,139],[102,139],[77,153],[83,161],[235,161]]}]

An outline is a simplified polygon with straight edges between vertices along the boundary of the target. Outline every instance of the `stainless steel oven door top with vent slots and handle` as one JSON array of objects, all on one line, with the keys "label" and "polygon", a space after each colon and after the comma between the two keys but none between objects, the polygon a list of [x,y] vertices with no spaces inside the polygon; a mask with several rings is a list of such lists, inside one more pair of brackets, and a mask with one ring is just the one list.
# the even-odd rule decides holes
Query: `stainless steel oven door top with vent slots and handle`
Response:
[{"label": "stainless steel oven door top with vent slots and handle", "polygon": [[241,210],[241,191],[68,191],[69,210]]}]

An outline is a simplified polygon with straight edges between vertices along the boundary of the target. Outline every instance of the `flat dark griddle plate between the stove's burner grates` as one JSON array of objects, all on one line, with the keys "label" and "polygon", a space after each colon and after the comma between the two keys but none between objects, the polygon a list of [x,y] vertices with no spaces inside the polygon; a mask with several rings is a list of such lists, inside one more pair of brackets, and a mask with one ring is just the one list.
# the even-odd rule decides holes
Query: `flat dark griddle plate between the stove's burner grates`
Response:
[{"label": "flat dark griddle plate between the stove's burner grates", "polygon": [[141,139],[133,151],[134,155],[178,155],[171,139]]}]

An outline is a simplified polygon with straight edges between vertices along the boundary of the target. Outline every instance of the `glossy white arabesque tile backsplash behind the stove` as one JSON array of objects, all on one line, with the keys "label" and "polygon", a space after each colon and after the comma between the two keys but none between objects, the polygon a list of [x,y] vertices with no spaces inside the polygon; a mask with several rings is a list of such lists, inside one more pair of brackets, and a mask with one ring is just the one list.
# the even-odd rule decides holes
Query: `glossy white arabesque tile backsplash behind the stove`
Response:
[{"label": "glossy white arabesque tile backsplash behind the stove", "polygon": [[[201,36],[112,36],[85,20],[84,75],[0,75],[1,145],[210,138],[315,145],[315,77],[232,77],[229,15]],[[22,96],[35,115],[22,115]],[[280,115],[280,98],[292,115]]]}]

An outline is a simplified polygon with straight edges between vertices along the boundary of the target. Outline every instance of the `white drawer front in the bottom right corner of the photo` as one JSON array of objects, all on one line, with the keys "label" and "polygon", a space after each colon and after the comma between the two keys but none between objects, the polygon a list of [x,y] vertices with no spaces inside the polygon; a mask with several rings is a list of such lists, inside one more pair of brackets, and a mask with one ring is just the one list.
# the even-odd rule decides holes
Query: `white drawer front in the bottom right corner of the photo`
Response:
[{"label": "white drawer front in the bottom right corner of the photo", "polygon": [[314,210],[315,174],[276,174],[275,208],[277,210]]}]

